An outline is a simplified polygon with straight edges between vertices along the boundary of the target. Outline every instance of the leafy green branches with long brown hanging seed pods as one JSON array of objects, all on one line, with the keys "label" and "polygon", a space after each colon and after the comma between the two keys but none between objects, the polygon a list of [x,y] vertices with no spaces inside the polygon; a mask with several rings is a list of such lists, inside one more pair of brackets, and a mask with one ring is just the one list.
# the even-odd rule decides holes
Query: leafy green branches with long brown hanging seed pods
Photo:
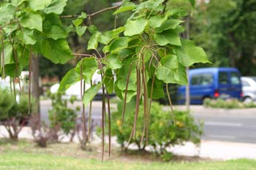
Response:
[{"label": "leafy green branches with long brown hanging seed pods", "polygon": [[[125,123],[126,113],[135,109],[130,139],[135,137],[139,107],[143,105],[141,142],[147,142],[152,100],[165,96],[165,84],[166,87],[168,83],[187,84],[186,67],[193,63],[208,62],[201,47],[196,47],[191,40],[181,38],[184,31],[181,26],[184,20],[181,18],[186,16],[184,12],[181,9],[167,9],[164,0],[124,0],[121,6],[108,7],[92,14],[82,12],[81,15],[68,16],[60,16],[67,0],[38,2],[1,3],[0,12],[4,14],[0,16],[1,76],[19,77],[23,68],[31,65],[33,54],[42,54],[53,63],[66,63],[73,55],[80,55],[82,59],[77,66],[69,70],[61,80],[59,91],[65,91],[80,81],[83,108],[90,107],[90,127],[91,101],[102,88],[102,159],[105,120],[108,120],[110,132],[110,93],[116,93],[122,101],[122,107],[119,108],[123,113],[121,125]],[[190,2],[195,4],[195,1]],[[113,15],[116,16],[127,11],[131,15],[124,26],[116,28],[115,22],[115,28],[101,32],[91,24],[91,20],[107,10],[115,10]],[[72,26],[65,27],[61,23],[65,18],[75,18]],[[87,46],[89,54],[72,53],[66,39],[72,30],[79,36],[90,33]],[[102,81],[93,85],[91,81],[95,72],[100,74]],[[88,90],[86,84],[91,84]],[[83,109],[83,125],[86,122],[84,115]],[[84,129],[91,131],[90,128]],[[83,136],[89,139],[86,131],[83,131]]]}]

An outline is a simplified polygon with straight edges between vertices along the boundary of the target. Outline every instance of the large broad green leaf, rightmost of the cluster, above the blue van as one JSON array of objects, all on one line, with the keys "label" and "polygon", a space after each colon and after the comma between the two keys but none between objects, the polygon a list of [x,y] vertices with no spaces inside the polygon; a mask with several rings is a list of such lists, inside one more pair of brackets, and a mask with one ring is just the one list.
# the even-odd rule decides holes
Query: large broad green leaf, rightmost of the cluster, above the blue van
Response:
[{"label": "large broad green leaf, rightmost of the cluster, above the blue van", "polygon": [[178,56],[178,62],[183,66],[191,66],[193,63],[210,63],[203,48],[196,47],[195,43],[183,39],[182,47],[176,47],[175,53]]}]

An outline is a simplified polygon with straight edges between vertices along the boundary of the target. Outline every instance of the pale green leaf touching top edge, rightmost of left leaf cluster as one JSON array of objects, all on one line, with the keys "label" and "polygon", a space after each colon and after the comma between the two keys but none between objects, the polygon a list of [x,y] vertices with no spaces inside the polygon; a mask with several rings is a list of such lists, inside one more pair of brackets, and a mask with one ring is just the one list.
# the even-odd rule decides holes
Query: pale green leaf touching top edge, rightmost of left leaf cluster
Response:
[{"label": "pale green leaf touching top edge, rightmost of left leaf cluster", "polygon": [[64,7],[67,5],[67,0],[53,0],[52,3],[44,9],[46,14],[55,13],[61,14]]}]

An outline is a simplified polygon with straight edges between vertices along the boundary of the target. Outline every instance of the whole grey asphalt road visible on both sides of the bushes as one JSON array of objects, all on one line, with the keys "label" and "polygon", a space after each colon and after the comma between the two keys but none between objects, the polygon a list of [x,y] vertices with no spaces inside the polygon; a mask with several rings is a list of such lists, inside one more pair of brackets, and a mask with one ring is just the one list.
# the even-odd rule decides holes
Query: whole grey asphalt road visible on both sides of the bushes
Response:
[{"label": "whole grey asphalt road visible on both sides of the bushes", "polygon": [[[80,103],[76,103],[79,106]],[[71,106],[70,106],[71,107]],[[48,122],[48,109],[50,102],[41,103],[41,119]],[[86,112],[89,109],[86,108]],[[78,112],[80,115],[80,112]],[[193,113],[195,118],[204,121],[204,134],[202,139],[229,141],[229,142],[246,142],[256,143],[256,112],[255,115],[237,115],[237,114],[217,114],[213,113]],[[94,123],[100,124],[101,120],[101,103],[93,103],[92,119]]]}]

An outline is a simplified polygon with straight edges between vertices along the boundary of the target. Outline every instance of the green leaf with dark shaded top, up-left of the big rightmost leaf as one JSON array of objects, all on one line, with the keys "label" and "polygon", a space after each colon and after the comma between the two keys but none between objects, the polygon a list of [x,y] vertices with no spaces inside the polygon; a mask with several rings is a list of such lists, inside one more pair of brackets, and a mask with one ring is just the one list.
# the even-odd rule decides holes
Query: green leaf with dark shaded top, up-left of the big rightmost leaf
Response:
[{"label": "green leaf with dark shaded top, up-left of the big rightmost leaf", "polygon": [[154,34],[154,40],[161,46],[167,44],[181,46],[180,36],[172,29]]}]

